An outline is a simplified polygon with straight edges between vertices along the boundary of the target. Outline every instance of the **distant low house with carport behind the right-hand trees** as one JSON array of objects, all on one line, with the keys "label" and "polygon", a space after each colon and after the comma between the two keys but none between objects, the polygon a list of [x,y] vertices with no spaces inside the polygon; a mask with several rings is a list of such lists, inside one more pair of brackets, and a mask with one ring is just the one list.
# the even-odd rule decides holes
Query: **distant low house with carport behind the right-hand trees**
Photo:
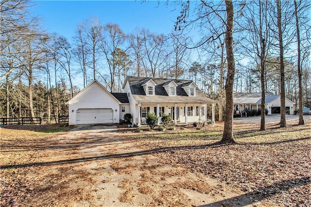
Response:
[{"label": "distant low house with carport behind the right-hand trees", "polygon": [[[233,103],[235,110],[253,110],[261,108],[261,93],[234,93]],[[285,107],[287,114],[294,114],[294,102],[285,98]],[[280,95],[274,95],[273,93],[265,94],[265,109],[268,110],[268,114],[281,113],[281,101]]]}]

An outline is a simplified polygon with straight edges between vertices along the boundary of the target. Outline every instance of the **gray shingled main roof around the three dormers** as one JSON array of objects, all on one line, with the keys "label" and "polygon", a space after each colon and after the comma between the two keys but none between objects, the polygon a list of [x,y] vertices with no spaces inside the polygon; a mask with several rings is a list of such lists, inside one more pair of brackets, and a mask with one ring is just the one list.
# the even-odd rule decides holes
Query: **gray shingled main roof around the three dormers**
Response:
[{"label": "gray shingled main roof around the three dormers", "polygon": [[[143,83],[152,79],[155,86],[155,96],[146,96],[143,89]],[[216,103],[214,100],[207,98],[199,88],[196,88],[196,96],[188,96],[182,88],[184,84],[192,83],[191,80],[164,79],[164,78],[145,78],[128,76],[131,92],[137,102],[142,103]],[[176,96],[169,96],[163,87],[164,84],[174,81],[177,84]]]}]

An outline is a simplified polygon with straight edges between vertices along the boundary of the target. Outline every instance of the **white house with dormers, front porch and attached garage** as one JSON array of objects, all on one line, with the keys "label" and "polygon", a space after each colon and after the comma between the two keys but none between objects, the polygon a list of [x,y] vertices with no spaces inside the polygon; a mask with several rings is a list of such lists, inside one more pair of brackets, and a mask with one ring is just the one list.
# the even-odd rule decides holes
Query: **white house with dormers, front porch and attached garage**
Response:
[{"label": "white house with dormers, front porch and attached garage", "polygon": [[124,93],[110,93],[98,81],[90,83],[67,103],[69,125],[119,123],[126,113],[132,115],[134,124],[141,125],[148,112],[159,118],[169,114],[174,123],[206,121],[208,104],[215,121],[216,102],[193,81],[128,76],[122,89]]}]

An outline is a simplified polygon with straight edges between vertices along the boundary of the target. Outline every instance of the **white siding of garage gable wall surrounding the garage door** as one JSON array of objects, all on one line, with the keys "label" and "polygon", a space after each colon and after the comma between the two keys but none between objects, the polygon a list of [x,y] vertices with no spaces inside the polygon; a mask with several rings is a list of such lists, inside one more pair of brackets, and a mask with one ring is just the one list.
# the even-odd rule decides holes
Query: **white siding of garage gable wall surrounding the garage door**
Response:
[{"label": "white siding of garage gable wall surrounding the garage door", "polygon": [[76,124],[76,112],[79,108],[110,108],[113,110],[113,123],[119,123],[119,101],[96,81],[87,86],[68,103],[69,125]]}]

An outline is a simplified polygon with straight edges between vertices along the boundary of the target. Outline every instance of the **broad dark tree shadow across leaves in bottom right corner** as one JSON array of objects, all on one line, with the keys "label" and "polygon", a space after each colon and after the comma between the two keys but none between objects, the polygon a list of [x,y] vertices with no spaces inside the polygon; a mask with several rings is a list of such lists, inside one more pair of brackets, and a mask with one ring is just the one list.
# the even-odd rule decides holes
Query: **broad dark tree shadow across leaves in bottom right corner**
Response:
[{"label": "broad dark tree shadow across leaves in bottom right corner", "polygon": [[228,198],[222,201],[217,201],[208,205],[203,205],[201,207],[223,207],[223,206],[243,207],[251,205],[258,201],[262,201],[263,199],[275,196],[284,191],[289,191],[296,187],[307,186],[310,184],[311,184],[310,176],[300,177],[291,180],[283,180],[280,182],[276,182],[270,186],[255,189],[251,192],[233,198]]}]

